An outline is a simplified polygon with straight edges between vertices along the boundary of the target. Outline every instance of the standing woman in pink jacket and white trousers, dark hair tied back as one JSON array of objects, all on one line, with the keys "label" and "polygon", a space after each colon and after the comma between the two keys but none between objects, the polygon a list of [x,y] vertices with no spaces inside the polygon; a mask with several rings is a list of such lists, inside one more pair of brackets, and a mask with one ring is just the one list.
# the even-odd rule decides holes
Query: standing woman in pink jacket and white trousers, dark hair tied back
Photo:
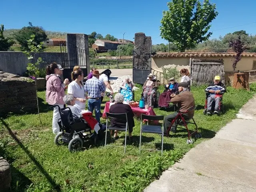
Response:
[{"label": "standing woman in pink jacket and white trousers, dark hair tied back", "polygon": [[[65,79],[64,82],[60,79],[62,75],[63,68],[56,64],[55,62],[51,63],[46,68],[46,102],[50,105],[58,105],[60,108],[64,107],[63,97],[65,96],[65,85],[68,84],[68,79]],[[53,110],[52,117],[52,132],[57,134],[60,131],[58,125],[58,120],[60,119],[60,113],[58,107],[55,107]]]}]

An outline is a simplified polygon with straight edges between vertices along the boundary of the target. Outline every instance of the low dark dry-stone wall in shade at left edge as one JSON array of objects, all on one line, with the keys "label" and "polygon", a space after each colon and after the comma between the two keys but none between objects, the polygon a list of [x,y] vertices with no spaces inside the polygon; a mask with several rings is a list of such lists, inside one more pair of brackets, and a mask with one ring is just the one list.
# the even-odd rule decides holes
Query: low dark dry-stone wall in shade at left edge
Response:
[{"label": "low dark dry-stone wall in shade at left edge", "polygon": [[0,114],[36,109],[36,86],[30,78],[0,71]]}]

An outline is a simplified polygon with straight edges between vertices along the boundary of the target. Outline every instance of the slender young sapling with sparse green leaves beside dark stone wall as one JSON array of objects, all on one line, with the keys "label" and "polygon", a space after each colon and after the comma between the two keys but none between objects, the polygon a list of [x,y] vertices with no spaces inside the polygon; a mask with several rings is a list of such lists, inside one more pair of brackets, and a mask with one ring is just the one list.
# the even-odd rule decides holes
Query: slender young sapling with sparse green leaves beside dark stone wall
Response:
[{"label": "slender young sapling with sparse green leaves beside dark stone wall", "polygon": [[[31,60],[31,63],[27,65],[27,71],[35,77],[35,85],[36,85],[36,78],[40,75],[39,65],[43,62],[42,58],[39,57],[37,60],[35,59],[36,54],[42,50],[42,46],[44,42],[40,42],[39,44],[35,41],[36,35],[32,34],[30,39],[28,40],[28,49],[30,52],[24,51],[23,53],[27,56],[28,60]],[[39,111],[39,104],[38,104],[38,95],[37,95],[37,87],[36,87],[36,101],[37,101],[37,110],[38,116],[40,120],[41,126],[43,126],[41,118],[40,118],[40,111]]]}]

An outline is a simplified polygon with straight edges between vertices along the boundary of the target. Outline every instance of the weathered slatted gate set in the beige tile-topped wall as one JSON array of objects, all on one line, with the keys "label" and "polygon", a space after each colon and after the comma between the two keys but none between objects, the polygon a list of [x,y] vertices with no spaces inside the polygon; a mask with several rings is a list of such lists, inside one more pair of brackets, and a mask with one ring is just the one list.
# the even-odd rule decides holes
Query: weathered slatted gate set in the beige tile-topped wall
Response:
[{"label": "weathered slatted gate set in the beige tile-topped wall", "polygon": [[224,83],[223,60],[198,60],[190,58],[191,84],[204,85],[213,82],[218,75]]}]

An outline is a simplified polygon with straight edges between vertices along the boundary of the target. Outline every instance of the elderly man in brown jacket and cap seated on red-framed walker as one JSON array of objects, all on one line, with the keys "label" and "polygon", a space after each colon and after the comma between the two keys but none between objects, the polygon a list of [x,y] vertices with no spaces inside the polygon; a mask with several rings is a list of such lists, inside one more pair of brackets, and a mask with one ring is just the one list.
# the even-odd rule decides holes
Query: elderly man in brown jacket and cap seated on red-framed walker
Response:
[{"label": "elderly man in brown jacket and cap seated on red-framed walker", "polygon": [[[179,94],[171,94],[171,102],[174,104],[178,104],[178,108],[180,112],[185,112],[186,110],[195,106],[195,100],[193,94],[188,91],[188,83],[181,82],[178,85]],[[185,119],[190,119],[194,116],[195,110],[190,110],[187,113],[184,113],[183,116]],[[178,112],[174,112],[164,118],[164,132],[166,134],[168,128],[171,125],[172,120],[178,115]],[[172,124],[171,131],[176,132],[177,122]]]}]

